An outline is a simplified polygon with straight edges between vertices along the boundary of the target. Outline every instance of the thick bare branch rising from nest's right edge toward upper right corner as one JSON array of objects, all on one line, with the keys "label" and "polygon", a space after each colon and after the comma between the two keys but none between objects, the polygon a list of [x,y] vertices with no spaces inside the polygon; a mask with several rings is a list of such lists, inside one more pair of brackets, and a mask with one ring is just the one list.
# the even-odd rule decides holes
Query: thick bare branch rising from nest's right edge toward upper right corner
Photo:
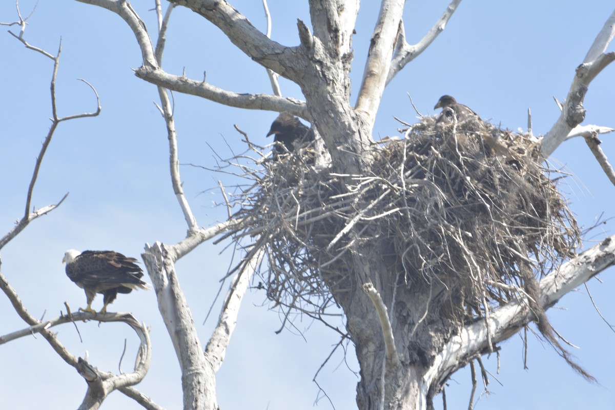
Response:
[{"label": "thick bare branch rising from nest's right edge toward upper right corner", "polygon": [[615,11],[606,20],[600,33],[596,36],[592,46],[587,52],[583,63],[576,68],[573,82],[563,105],[560,117],[553,127],[542,138],[541,152],[550,156],[555,149],[568,138],[574,127],[585,119],[583,101],[590,82],[615,60],[615,52],[604,53],[615,35]]}]

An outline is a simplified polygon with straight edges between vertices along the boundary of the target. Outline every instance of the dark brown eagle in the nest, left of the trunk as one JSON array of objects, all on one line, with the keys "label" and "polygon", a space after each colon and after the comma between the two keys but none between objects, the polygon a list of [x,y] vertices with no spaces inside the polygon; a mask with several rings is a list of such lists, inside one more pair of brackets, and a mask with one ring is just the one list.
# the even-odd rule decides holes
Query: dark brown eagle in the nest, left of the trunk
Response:
[{"label": "dark brown eagle in the nest, left of the trunk", "polygon": [[314,141],[314,132],[290,112],[280,112],[272,122],[267,136],[274,135],[274,159],[287,152],[295,152]]}]

